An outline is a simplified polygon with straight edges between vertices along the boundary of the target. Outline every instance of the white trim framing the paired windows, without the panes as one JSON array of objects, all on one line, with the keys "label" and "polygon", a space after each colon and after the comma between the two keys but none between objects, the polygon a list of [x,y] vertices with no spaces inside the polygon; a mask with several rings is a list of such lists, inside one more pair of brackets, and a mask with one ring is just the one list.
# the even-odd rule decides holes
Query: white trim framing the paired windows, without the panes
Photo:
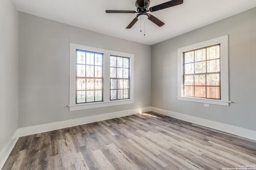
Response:
[{"label": "white trim framing the paired windows, without the panes", "polygon": [[[103,53],[103,102],[76,104],[76,49]],[[110,55],[130,58],[130,99],[110,100]],[[70,43],[69,111],[134,103],[134,55]]]}]

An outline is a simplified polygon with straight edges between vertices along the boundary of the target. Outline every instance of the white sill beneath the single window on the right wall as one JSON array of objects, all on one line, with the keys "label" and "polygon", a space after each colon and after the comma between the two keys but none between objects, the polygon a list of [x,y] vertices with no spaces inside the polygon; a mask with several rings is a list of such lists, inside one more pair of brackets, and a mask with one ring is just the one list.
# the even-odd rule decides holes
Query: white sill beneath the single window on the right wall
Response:
[{"label": "white sill beneath the single window on the right wall", "polygon": [[229,106],[229,103],[231,103],[230,101],[222,101],[222,100],[214,100],[214,99],[180,97],[180,96],[177,96],[177,97],[178,97],[178,100],[205,103],[205,104],[215,104],[215,105],[221,105],[221,106]]}]

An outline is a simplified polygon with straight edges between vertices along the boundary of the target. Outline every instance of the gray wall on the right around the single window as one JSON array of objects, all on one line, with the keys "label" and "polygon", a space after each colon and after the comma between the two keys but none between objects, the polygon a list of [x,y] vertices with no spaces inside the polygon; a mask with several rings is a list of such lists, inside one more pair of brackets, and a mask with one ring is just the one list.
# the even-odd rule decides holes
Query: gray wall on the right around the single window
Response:
[{"label": "gray wall on the right around the single window", "polygon": [[[196,19],[195,19],[196,22]],[[177,49],[229,35],[230,106],[177,100]],[[152,45],[152,106],[256,131],[256,8]]]}]

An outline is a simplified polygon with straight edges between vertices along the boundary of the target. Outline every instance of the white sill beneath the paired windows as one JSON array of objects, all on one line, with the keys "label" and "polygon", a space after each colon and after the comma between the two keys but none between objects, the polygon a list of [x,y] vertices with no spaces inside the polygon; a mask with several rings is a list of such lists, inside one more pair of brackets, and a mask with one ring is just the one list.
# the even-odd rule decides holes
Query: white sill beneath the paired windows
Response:
[{"label": "white sill beneath the paired windows", "polygon": [[127,100],[113,100],[108,102],[75,104],[75,105],[68,105],[68,107],[69,107],[69,111],[76,111],[76,110],[83,110],[83,109],[93,109],[98,107],[118,106],[118,105],[133,104],[133,103],[134,103],[134,99],[127,99]]}]

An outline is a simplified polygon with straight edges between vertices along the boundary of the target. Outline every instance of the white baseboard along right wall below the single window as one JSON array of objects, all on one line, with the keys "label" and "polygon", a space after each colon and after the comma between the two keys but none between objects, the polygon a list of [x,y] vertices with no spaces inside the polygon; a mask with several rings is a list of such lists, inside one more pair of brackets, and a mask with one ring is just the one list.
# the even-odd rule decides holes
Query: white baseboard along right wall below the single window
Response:
[{"label": "white baseboard along right wall below the single window", "polygon": [[256,131],[252,131],[250,129],[202,119],[174,111],[159,109],[156,107],[151,107],[151,111],[256,141]]}]

